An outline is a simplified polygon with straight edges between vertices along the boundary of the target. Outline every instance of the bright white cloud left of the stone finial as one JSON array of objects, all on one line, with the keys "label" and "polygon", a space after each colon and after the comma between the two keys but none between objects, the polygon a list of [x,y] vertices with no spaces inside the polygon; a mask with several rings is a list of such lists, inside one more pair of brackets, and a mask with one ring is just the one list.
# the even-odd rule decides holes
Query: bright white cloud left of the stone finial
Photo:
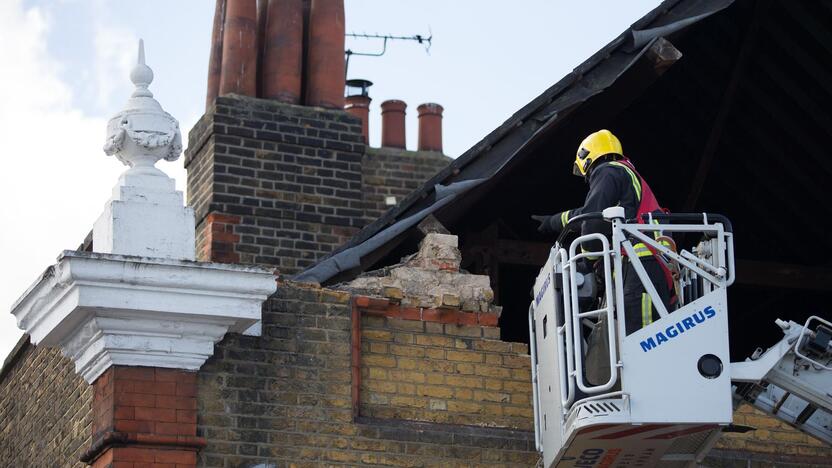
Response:
[{"label": "bright white cloud left of the stone finial", "polygon": [[[81,243],[123,169],[101,150],[106,121],[72,107],[47,50],[46,18],[21,0],[0,2],[0,357],[21,334],[9,306]],[[100,58],[113,55],[105,48]],[[123,73],[114,63],[112,73]]]}]

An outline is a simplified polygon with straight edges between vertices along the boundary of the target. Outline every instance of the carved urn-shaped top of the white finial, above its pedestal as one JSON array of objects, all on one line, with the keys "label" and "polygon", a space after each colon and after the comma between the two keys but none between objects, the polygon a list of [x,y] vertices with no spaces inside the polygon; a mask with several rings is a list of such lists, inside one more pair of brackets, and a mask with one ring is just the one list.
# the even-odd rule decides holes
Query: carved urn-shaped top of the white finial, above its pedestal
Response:
[{"label": "carved urn-shaped top of the white finial, above its pedestal", "polygon": [[128,172],[163,176],[156,169],[156,161],[175,161],[182,153],[179,122],[153,99],[148,86],[153,81],[153,70],[145,64],[144,41],[139,39],[139,59],[130,72],[136,86],[124,110],[107,124],[104,152],[130,166]]}]

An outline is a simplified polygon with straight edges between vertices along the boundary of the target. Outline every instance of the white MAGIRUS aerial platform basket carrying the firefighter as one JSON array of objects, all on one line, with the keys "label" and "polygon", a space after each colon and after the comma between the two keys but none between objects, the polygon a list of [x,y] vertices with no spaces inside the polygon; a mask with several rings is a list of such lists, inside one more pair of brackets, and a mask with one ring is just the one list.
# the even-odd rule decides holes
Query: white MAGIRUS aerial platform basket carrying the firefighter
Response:
[{"label": "white MAGIRUS aerial platform basket carrying the firefighter", "polygon": [[[733,412],[726,296],[734,280],[730,223],[698,214],[628,224],[618,207],[595,216],[612,224],[612,241],[590,234],[568,249],[557,243],[534,285],[529,328],[535,439],[544,466],[695,466]],[[702,241],[692,252],[677,253],[661,237],[671,233]],[[643,245],[634,247],[638,243]],[[647,276],[644,257],[636,252],[644,246],[661,253],[676,272],[674,310],[667,310]],[[599,258],[594,271],[579,271],[586,257]],[[660,315],[630,335],[625,314],[617,313],[624,310],[618,273],[624,262],[632,263],[647,290],[643,301],[650,300]],[[600,300],[596,284],[603,289]]]}]

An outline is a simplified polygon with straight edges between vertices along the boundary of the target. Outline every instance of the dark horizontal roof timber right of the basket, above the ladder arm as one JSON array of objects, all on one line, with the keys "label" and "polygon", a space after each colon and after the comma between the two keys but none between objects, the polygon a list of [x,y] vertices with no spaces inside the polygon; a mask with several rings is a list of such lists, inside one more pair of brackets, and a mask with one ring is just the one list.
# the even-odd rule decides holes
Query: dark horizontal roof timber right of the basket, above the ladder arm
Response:
[{"label": "dark horizontal roof timber right of the basket, above the ladder arm", "polygon": [[832,268],[737,260],[737,284],[830,292]]}]

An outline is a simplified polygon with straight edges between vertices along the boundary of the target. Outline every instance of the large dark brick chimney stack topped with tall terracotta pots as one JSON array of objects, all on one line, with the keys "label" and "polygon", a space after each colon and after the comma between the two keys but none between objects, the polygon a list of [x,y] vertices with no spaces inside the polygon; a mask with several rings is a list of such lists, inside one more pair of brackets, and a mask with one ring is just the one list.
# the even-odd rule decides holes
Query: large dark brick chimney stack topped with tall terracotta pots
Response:
[{"label": "large dark brick chimney stack topped with tall terracotta pots", "polygon": [[[382,145],[396,150],[368,151],[371,83],[351,83],[344,99],[343,0],[217,2],[206,113],[185,160],[197,259],[291,275],[448,159],[400,151],[402,101],[382,105]],[[243,78],[245,87],[231,86]]]}]

